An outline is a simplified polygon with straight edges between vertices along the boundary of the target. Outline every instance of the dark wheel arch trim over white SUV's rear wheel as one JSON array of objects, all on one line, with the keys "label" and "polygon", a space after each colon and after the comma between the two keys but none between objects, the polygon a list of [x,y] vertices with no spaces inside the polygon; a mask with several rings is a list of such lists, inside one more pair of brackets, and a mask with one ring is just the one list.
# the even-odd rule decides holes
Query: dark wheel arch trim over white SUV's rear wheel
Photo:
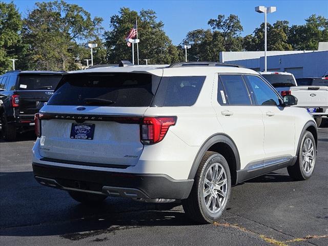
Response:
[{"label": "dark wheel arch trim over white SUV's rear wheel", "polygon": [[231,173],[231,184],[236,185],[237,171],[240,170],[239,152],[235,142],[223,133],[214,134],[203,143],[194,159],[188,178],[193,179],[195,177],[200,160],[207,151],[218,152],[226,158]]}]

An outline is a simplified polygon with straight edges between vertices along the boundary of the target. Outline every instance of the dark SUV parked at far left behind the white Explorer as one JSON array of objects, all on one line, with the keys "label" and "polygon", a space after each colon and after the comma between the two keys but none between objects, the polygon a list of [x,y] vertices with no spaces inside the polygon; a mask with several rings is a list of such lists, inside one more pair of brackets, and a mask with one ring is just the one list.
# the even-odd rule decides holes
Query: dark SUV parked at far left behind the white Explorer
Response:
[{"label": "dark SUV parked at far left behind the white Explorer", "polygon": [[53,94],[63,72],[10,71],[0,76],[0,127],[4,139],[34,129],[34,114]]}]

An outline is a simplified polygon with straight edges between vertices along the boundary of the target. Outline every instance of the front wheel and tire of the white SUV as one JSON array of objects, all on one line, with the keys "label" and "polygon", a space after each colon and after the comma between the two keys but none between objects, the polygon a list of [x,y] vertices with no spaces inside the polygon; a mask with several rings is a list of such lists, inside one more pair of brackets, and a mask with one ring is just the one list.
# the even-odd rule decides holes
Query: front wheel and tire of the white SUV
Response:
[{"label": "front wheel and tire of the white SUV", "polygon": [[[313,147],[312,150],[311,146]],[[314,171],[317,154],[316,152],[316,144],[312,133],[305,131],[302,136],[296,163],[287,168],[289,176],[291,176],[294,180],[309,179]]]}]

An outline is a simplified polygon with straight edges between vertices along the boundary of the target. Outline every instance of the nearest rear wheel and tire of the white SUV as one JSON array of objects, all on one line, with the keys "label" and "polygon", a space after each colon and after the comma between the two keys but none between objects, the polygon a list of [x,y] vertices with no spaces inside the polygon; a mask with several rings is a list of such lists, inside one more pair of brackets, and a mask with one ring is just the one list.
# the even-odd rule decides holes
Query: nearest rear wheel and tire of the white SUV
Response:
[{"label": "nearest rear wheel and tire of the white SUV", "polygon": [[[214,185],[211,182],[213,179],[210,169],[215,174]],[[222,185],[220,186],[219,183]],[[205,191],[207,195],[204,194]],[[182,207],[190,219],[200,223],[213,223],[226,211],[230,193],[231,176],[227,160],[219,153],[207,151],[200,161],[189,197],[182,200]],[[226,196],[224,197],[223,194]],[[209,205],[207,206],[206,203]]]}]

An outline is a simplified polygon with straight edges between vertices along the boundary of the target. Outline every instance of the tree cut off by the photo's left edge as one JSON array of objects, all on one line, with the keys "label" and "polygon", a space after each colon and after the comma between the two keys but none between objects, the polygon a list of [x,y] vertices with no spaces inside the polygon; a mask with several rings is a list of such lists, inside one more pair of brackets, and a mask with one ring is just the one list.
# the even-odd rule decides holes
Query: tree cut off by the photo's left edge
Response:
[{"label": "tree cut off by the photo's left edge", "polygon": [[22,50],[22,19],[13,3],[0,2],[0,74],[12,69],[12,61]]}]

